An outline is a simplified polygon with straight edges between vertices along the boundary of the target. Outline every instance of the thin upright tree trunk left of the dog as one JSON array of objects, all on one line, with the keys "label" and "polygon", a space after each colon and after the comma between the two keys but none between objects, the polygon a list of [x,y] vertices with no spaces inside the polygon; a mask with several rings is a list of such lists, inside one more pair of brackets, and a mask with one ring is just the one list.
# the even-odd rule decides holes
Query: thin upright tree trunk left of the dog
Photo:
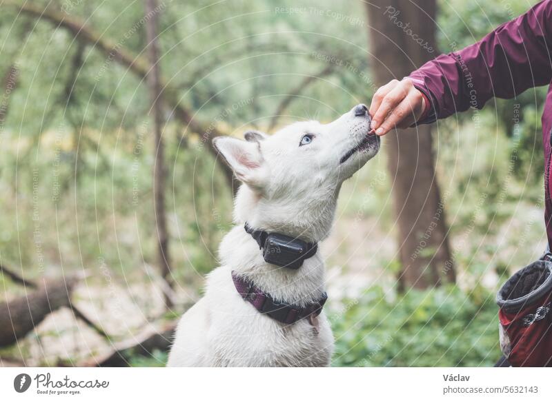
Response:
[{"label": "thin upright tree trunk left of the dog", "polygon": [[[163,143],[163,107],[161,105],[161,74],[159,49],[157,48],[157,0],[146,0],[146,37],[151,69],[148,72],[153,130],[155,133],[155,165],[153,166],[153,209],[157,227],[157,252],[161,277],[170,285],[170,261],[168,254],[168,230],[165,210],[165,147]],[[167,307],[170,297],[165,296]]]}]

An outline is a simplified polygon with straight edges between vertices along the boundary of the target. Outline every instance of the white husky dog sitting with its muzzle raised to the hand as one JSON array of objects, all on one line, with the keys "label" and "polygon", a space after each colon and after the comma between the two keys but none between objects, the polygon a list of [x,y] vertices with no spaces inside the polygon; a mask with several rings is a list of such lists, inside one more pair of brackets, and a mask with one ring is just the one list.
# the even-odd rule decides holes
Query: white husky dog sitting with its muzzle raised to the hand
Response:
[{"label": "white husky dog sitting with its muzzle raised to the hand", "polygon": [[[236,226],[219,249],[221,266],[208,275],[204,297],[182,316],[169,367],[330,364],[333,335],[324,312],[301,316],[304,310],[312,312],[310,305],[323,305],[324,261],[319,251],[315,247],[298,269],[267,263],[244,225],[305,243],[324,240],[343,181],[380,149],[380,138],[369,131],[367,108],[357,105],[328,124],[306,121],[271,136],[246,132],[246,141],[222,136],[213,140],[244,185],[235,199]],[[262,313],[249,295],[240,294],[235,277],[242,284],[252,283],[273,302],[292,305],[299,316],[293,313],[284,322]]]}]

